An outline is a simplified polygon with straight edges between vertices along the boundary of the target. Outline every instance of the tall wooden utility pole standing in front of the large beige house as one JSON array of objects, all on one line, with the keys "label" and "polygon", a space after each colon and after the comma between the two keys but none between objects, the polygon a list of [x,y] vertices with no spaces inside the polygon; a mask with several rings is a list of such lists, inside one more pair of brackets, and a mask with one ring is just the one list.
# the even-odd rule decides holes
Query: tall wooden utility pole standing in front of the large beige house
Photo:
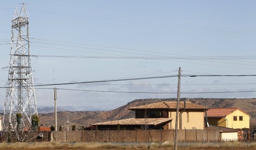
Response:
[{"label": "tall wooden utility pole standing in front of the large beige house", "polygon": [[176,120],[175,120],[174,150],[178,149],[178,120],[179,120],[179,98],[180,98],[180,74],[181,74],[181,68],[179,67],[178,92],[177,92],[177,108],[176,108]]}]

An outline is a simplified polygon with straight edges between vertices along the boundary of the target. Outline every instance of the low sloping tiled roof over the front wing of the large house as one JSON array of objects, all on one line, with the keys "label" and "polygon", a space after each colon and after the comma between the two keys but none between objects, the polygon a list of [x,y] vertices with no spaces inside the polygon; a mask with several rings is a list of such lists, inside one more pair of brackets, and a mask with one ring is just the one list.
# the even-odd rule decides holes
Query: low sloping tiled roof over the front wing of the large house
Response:
[{"label": "low sloping tiled roof over the front wing of the large house", "polygon": [[171,122],[172,118],[130,118],[130,119],[123,119],[123,120],[116,120],[110,122],[100,122],[100,123],[93,123],[92,126],[95,125],[143,125],[145,122],[148,125],[157,126],[161,123]]}]

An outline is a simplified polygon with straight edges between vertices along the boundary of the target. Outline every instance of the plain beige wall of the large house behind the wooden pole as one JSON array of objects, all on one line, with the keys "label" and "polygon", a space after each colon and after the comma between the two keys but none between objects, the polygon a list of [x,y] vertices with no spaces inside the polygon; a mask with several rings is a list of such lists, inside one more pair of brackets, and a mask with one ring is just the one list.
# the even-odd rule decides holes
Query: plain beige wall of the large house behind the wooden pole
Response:
[{"label": "plain beige wall of the large house behind the wooden pole", "polygon": [[[187,122],[187,112],[189,121]],[[180,117],[180,116],[179,116]],[[171,112],[171,129],[175,129],[176,111]],[[179,128],[179,120],[178,120]],[[201,111],[184,111],[182,113],[182,129],[204,129],[203,112]]]}]

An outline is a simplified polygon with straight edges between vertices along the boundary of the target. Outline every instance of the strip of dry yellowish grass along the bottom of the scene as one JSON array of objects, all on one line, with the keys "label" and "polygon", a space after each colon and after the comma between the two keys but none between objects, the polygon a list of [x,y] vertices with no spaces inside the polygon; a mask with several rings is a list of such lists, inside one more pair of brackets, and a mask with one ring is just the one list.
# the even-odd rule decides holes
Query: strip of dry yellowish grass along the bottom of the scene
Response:
[{"label": "strip of dry yellowish grass along the bottom of the scene", "polygon": [[[122,143],[121,143],[122,144]],[[174,149],[173,142],[151,143],[150,145],[118,145],[111,143],[60,143],[60,142],[16,142],[16,143],[0,143],[0,150],[52,150],[52,149],[69,149],[69,150],[123,150],[123,149]],[[191,143],[185,146],[178,146],[179,150],[255,150],[256,143],[243,142],[220,142],[217,144]]]}]

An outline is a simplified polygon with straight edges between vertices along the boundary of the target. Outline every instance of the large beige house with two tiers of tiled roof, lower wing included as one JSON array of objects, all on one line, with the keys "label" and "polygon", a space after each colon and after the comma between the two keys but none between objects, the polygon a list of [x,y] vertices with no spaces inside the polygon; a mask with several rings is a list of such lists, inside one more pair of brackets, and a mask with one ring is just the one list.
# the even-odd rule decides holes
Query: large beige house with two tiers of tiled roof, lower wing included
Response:
[{"label": "large beige house with two tiers of tiled roof, lower wing included", "polygon": [[[135,111],[135,118],[110,122],[94,123],[98,129],[175,129],[176,102],[160,102],[138,107],[130,107]],[[179,129],[203,129],[203,113],[206,107],[191,102],[179,103]]]}]

